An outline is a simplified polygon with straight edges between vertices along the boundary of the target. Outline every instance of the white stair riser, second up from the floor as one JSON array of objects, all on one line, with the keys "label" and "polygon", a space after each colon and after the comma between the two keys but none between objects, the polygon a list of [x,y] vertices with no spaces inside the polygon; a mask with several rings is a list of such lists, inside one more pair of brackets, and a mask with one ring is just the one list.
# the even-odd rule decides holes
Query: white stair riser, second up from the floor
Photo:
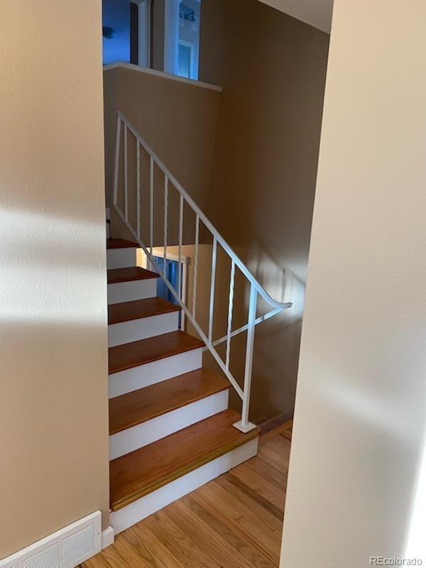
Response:
[{"label": "white stair riser, second up from the floor", "polygon": [[109,459],[129,454],[228,408],[229,390],[196,400],[109,437]]}]

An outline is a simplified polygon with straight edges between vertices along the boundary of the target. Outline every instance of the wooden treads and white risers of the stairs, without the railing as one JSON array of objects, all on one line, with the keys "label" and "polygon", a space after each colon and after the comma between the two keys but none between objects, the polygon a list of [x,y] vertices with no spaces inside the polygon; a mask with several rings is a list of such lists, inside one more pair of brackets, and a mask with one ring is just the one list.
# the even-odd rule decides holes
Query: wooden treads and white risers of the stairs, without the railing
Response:
[{"label": "wooden treads and white risers of the stairs, without the railing", "polygon": [[111,525],[117,534],[256,455],[228,379],[202,366],[204,342],[156,297],[139,244],[107,241]]}]

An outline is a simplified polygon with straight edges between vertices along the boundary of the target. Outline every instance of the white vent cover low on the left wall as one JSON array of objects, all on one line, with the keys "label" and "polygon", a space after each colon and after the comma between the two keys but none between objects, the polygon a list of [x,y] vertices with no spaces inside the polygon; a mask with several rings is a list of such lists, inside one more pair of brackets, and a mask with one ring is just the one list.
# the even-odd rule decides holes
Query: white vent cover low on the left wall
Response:
[{"label": "white vent cover low on the left wall", "polygon": [[75,568],[101,552],[101,541],[101,513],[97,511],[0,560],[0,568]]}]

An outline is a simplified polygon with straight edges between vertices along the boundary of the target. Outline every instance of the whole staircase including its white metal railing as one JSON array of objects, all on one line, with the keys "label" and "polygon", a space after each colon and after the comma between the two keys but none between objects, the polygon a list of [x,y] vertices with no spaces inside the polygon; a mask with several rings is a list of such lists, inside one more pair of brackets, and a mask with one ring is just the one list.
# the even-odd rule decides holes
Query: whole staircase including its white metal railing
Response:
[{"label": "whole staircase including its white metal railing", "polygon": [[[107,244],[111,525],[118,533],[256,455],[258,429],[249,420],[255,329],[291,303],[266,293],[121,112],[113,206],[134,239]],[[155,254],[160,243],[163,268]],[[191,300],[184,294],[185,243],[194,253]],[[168,246],[178,249],[176,283],[165,268]],[[211,250],[209,290],[206,274],[203,290],[197,278],[200,246]],[[153,271],[136,266],[139,248]],[[217,270],[218,258],[229,268]],[[177,305],[156,297],[159,277]],[[216,309],[224,286],[225,319]],[[197,298],[206,293],[203,323]],[[234,298],[246,307],[246,323],[237,328]],[[178,329],[181,310],[197,337]],[[241,334],[242,369],[231,365],[231,345]],[[202,366],[206,349],[223,376]],[[241,398],[241,415],[228,408],[229,388]]]}]

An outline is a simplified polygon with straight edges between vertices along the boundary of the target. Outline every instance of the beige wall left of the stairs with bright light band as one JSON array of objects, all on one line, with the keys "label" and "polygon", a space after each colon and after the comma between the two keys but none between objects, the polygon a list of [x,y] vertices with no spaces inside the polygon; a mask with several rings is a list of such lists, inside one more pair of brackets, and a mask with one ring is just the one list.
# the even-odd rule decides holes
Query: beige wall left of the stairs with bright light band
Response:
[{"label": "beige wall left of the stairs with bright light band", "polygon": [[0,558],[108,524],[101,7],[0,4]]}]

